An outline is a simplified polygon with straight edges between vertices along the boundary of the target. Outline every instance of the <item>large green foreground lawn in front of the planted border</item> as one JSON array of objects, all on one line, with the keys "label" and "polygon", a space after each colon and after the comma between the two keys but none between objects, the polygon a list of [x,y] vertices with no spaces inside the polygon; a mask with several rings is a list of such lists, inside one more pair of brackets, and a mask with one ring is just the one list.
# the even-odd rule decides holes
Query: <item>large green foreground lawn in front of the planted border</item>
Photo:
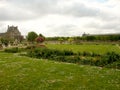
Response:
[{"label": "large green foreground lawn in front of the planted border", "polygon": [[0,90],[119,90],[120,70],[0,52]]}]

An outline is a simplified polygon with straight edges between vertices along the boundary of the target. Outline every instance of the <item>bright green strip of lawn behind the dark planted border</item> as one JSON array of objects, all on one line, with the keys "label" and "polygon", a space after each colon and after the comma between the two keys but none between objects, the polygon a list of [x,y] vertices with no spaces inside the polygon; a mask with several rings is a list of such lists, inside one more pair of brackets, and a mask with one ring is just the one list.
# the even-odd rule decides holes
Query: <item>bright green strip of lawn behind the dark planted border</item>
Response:
[{"label": "bright green strip of lawn behind the dark planted border", "polygon": [[120,47],[117,45],[69,45],[69,44],[48,44],[50,49],[72,50],[74,52],[95,52],[104,54],[107,52],[120,53]]}]

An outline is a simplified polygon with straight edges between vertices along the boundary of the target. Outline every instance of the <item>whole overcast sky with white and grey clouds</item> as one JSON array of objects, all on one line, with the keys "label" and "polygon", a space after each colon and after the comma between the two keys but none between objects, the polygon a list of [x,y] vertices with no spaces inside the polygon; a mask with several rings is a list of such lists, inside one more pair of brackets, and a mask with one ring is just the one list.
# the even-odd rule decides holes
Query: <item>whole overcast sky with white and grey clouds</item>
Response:
[{"label": "whole overcast sky with white and grey clouds", "polygon": [[0,33],[47,37],[120,33],[120,0],[0,0]]}]

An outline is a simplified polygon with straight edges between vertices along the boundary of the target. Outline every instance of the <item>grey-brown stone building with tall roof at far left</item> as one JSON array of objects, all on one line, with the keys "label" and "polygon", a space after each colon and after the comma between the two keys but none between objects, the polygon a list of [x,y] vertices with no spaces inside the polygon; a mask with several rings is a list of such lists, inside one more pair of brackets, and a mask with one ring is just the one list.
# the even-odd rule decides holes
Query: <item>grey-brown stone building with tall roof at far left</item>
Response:
[{"label": "grey-brown stone building with tall roof at far left", "polygon": [[5,38],[8,40],[12,40],[12,41],[21,41],[21,39],[23,39],[23,36],[21,35],[18,27],[16,26],[9,26],[8,25],[8,29],[7,32],[5,33],[0,33],[0,38]]}]

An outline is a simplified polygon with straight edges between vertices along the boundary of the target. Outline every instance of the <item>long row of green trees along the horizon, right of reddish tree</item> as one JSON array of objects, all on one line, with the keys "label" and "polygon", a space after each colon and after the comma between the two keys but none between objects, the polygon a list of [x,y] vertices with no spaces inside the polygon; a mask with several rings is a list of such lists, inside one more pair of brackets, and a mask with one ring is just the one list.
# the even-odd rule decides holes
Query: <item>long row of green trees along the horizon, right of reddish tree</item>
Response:
[{"label": "long row of green trees along the horizon, right of reddish tree", "polygon": [[46,37],[47,41],[69,40],[72,38],[74,41],[120,41],[120,34],[118,35],[88,35],[88,36],[75,36],[75,37]]}]

